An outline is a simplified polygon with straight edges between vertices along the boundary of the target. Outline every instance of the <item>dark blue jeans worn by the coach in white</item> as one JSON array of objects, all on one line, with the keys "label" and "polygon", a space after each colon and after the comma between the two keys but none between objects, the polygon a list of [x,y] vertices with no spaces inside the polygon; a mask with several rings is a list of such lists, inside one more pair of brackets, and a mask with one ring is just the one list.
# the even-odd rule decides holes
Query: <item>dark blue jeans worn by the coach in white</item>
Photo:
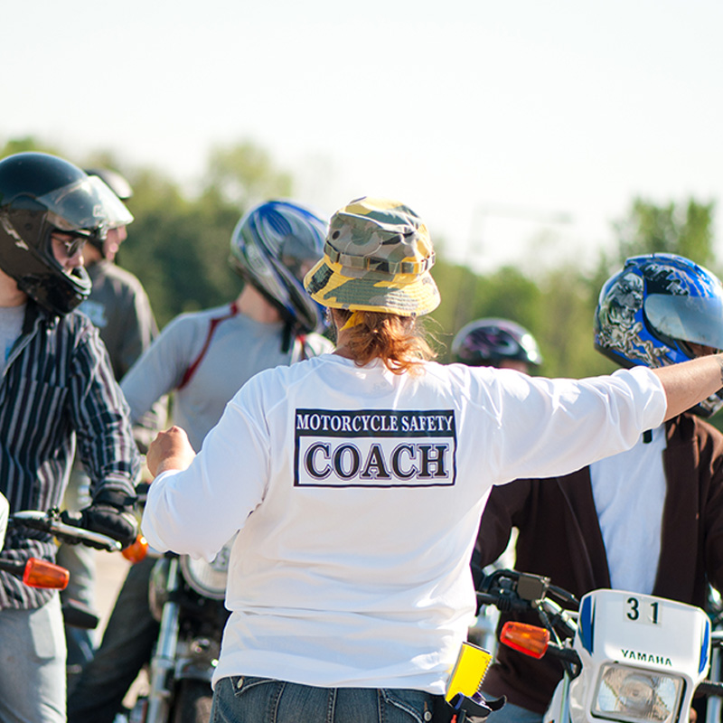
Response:
[{"label": "dark blue jeans worn by the coach in white", "polygon": [[438,696],[424,690],[315,688],[268,678],[222,678],[211,723],[430,723]]}]

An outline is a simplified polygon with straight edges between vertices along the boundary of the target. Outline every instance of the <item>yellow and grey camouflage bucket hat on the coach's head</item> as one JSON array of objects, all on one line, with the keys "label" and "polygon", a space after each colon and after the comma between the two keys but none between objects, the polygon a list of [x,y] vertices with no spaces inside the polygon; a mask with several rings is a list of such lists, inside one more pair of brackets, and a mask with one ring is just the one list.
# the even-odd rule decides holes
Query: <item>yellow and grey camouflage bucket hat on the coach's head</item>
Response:
[{"label": "yellow and grey camouflage bucket hat on the coach's head", "polygon": [[304,286],[319,304],[335,309],[421,316],[441,300],[429,274],[434,262],[427,226],[414,211],[365,196],[334,213],[324,258]]}]

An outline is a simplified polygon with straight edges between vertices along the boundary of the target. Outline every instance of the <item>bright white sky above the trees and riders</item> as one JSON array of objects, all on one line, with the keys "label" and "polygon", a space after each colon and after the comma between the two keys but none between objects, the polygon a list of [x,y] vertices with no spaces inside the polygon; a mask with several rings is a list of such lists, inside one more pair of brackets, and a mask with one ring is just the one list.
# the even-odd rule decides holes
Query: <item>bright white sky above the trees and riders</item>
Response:
[{"label": "bright white sky above the trees and riders", "polygon": [[110,149],[192,186],[211,146],[250,139],[299,201],[399,198],[482,270],[590,258],[635,195],[723,202],[719,0],[36,0],[2,16],[0,142]]}]

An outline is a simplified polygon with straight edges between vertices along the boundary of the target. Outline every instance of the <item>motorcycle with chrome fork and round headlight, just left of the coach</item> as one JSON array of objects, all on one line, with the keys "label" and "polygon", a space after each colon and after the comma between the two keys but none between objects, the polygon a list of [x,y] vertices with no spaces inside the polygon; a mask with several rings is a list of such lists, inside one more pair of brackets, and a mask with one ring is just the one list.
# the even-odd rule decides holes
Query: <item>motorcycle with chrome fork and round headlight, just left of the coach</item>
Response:
[{"label": "motorcycle with chrome fork and round headlight, just left of the coach", "polygon": [[166,553],[153,567],[149,603],[160,623],[148,671],[148,692],[129,723],[205,723],[211,715],[211,677],[221,653],[229,611],[223,606],[230,543],[211,563]]}]

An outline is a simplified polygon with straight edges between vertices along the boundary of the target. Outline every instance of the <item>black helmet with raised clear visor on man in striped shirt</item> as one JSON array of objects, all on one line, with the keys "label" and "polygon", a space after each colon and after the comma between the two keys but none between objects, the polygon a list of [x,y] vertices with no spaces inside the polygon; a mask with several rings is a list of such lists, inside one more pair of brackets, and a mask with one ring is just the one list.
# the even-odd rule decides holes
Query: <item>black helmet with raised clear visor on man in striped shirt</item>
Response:
[{"label": "black helmet with raised clear visor on man in striped shirt", "polygon": [[19,153],[0,161],[0,268],[52,315],[90,293],[85,269],[66,271],[53,256],[52,232],[102,239],[128,217],[105,183],[62,158]]}]

